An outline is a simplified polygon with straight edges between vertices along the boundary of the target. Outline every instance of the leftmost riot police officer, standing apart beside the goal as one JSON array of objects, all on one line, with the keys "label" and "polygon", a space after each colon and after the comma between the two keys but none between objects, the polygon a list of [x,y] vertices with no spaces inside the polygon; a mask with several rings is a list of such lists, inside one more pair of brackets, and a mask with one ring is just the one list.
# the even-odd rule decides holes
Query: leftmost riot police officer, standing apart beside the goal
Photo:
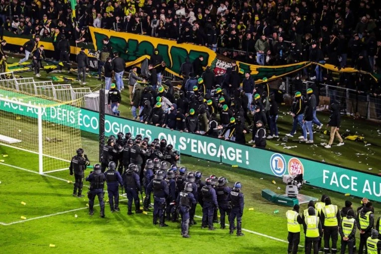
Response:
[{"label": "leftmost riot police officer, standing apart beside the goal", "polygon": [[83,180],[85,178],[85,170],[86,166],[90,165],[90,161],[87,158],[86,154],[83,154],[84,150],[82,148],[77,149],[77,155],[73,156],[70,161],[70,175],[73,175],[74,170],[74,190],[73,190],[73,196],[77,196],[77,190],[78,190],[78,197],[84,197],[82,195],[82,187],[83,187]]}]

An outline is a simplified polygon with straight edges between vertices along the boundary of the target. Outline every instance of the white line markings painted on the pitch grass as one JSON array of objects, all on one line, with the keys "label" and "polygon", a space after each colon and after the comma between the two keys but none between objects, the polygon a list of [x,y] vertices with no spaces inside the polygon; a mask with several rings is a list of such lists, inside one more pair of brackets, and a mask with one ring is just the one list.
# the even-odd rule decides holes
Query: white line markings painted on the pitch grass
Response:
[{"label": "white line markings painted on the pitch grass", "polygon": [[[13,166],[13,165],[9,165],[9,164],[6,164],[6,163],[1,163],[1,162],[0,162],[0,164],[40,175],[38,172],[29,170],[29,169],[26,169],[26,168],[17,167],[17,166]],[[63,178],[59,178],[59,177],[52,176],[52,175],[45,175],[45,174],[43,174],[43,175],[47,176],[47,177],[51,177],[51,178],[57,179],[57,180],[65,181],[65,182],[68,181],[68,180],[65,180]],[[127,200],[127,199],[123,199],[123,200],[120,200],[120,201],[125,201],[125,200]],[[94,205],[94,206],[99,206],[99,204],[98,205]],[[11,223],[0,222],[0,225],[9,226],[9,225],[17,224],[17,223],[23,223],[23,222],[26,222],[26,221],[32,221],[32,220],[36,220],[36,219],[47,218],[47,217],[51,217],[51,216],[55,216],[55,215],[75,212],[75,211],[84,210],[84,209],[88,209],[88,207],[77,208],[77,209],[73,209],[73,210],[69,210],[69,211],[64,211],[64,212],[59,212],[59,213],[55,213],[55,214],[43,215],[43,216],[39,216],[39,217],[35,217],[35,218],[30,218],[30,219],[26,219],[26,220],[22,220],[22,221],[11,222]],[[198,216],[198,215],[195,215],[195,217],[202,219],[202,217]],[[228,224],[225,224],[225,225],[229,226]],[[272,239],[272,240],[275,240],[275,241],[278,241],[278,242],[282,242],[282,243],[288,244],[288,241],[285,241],[285,240],[282,240],[282,239],[279,239],[279,238],[276,238],[276,237],[271,237],[271,236],[268,236],[268,235],[265,235],[265,234],[262,234],[262,233],[258,233],[258,232],[255,232],[255,231],[251,231],[251,230],[248,230],[248,229],[242,229],[242,231],[245,231],[245,232],[248,232],[248,233],[251,233],[251,234],[254,234],[254,235],[258,235],[258,236],[261,236],[261,237],[265,237],[265,238],[268,238],[268,239]],[[303,248],[304,246],[299,245],[299,247]]]}]

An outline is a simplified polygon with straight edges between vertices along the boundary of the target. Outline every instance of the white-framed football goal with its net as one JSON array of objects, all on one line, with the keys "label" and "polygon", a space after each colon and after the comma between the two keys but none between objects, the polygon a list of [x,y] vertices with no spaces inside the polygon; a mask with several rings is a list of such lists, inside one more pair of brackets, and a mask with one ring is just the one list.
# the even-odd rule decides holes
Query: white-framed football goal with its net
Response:
[{"label": "white-framed football goal with its net", "polygon": [[0,163],[40,174],[67,169],[81,147],[80,103],[0,89]]}]

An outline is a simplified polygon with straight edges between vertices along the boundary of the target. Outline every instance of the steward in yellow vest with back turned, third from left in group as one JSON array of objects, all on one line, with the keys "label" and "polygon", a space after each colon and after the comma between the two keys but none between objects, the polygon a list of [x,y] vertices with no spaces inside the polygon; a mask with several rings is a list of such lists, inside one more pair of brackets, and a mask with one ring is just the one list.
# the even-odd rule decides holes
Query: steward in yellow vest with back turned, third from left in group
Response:
[{"label": "steward in yellow vest with back turned, third from left in group", "polygon": [[324,254],[329,253],[330,240],[332,241],[331,254],[337,252],[338,226],[341,221],[340,211],[336,205],[332,205],[331,198],[324,199],[325,206],[322,208],[320,220],[324,227]]}]

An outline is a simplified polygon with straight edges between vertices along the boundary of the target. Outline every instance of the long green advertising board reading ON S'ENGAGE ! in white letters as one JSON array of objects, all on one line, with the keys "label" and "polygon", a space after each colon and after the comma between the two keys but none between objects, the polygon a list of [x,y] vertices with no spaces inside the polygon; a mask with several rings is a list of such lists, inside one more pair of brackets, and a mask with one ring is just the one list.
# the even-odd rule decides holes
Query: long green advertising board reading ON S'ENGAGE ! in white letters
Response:
[{"label": "long green advertising board reading ON S'ENGAGE ! in white letters", "polygon": [[[99,113],[86,109],[78,109],[68,105],[56,106],[54,102],[35,97],[22,95],[22,102],[36,104],[43,107],[43,120],[64,126],[79,126],[81,130],[98,134]],[[13,101],[20,101],[20,94],[0,90],[0,97]],[[52,106],[49,106],[52,105]],[[37,113],[27,107],[18,107],[16,104],[0,101],[0,110],[23,116],[37,118]],[[120,117],[106,115],[106,136],[118,132],[131,132],[132,135],[141,134],[143,137],[165,138],[173,144],[181,154],[222,162],[228,165],[237,165],[248,170],[282,177],[284,174],[300,174],[310,182],[310,185],[329,189],[340,193],[349,193],[357,197],[368,197],[381,202],[381,178],[378,175],[368,174],[348,168],[342,168],[313,160],[298,158],[284,153],[253,148],[199,134],[171,131],[168,128],[144,125]]]}]

